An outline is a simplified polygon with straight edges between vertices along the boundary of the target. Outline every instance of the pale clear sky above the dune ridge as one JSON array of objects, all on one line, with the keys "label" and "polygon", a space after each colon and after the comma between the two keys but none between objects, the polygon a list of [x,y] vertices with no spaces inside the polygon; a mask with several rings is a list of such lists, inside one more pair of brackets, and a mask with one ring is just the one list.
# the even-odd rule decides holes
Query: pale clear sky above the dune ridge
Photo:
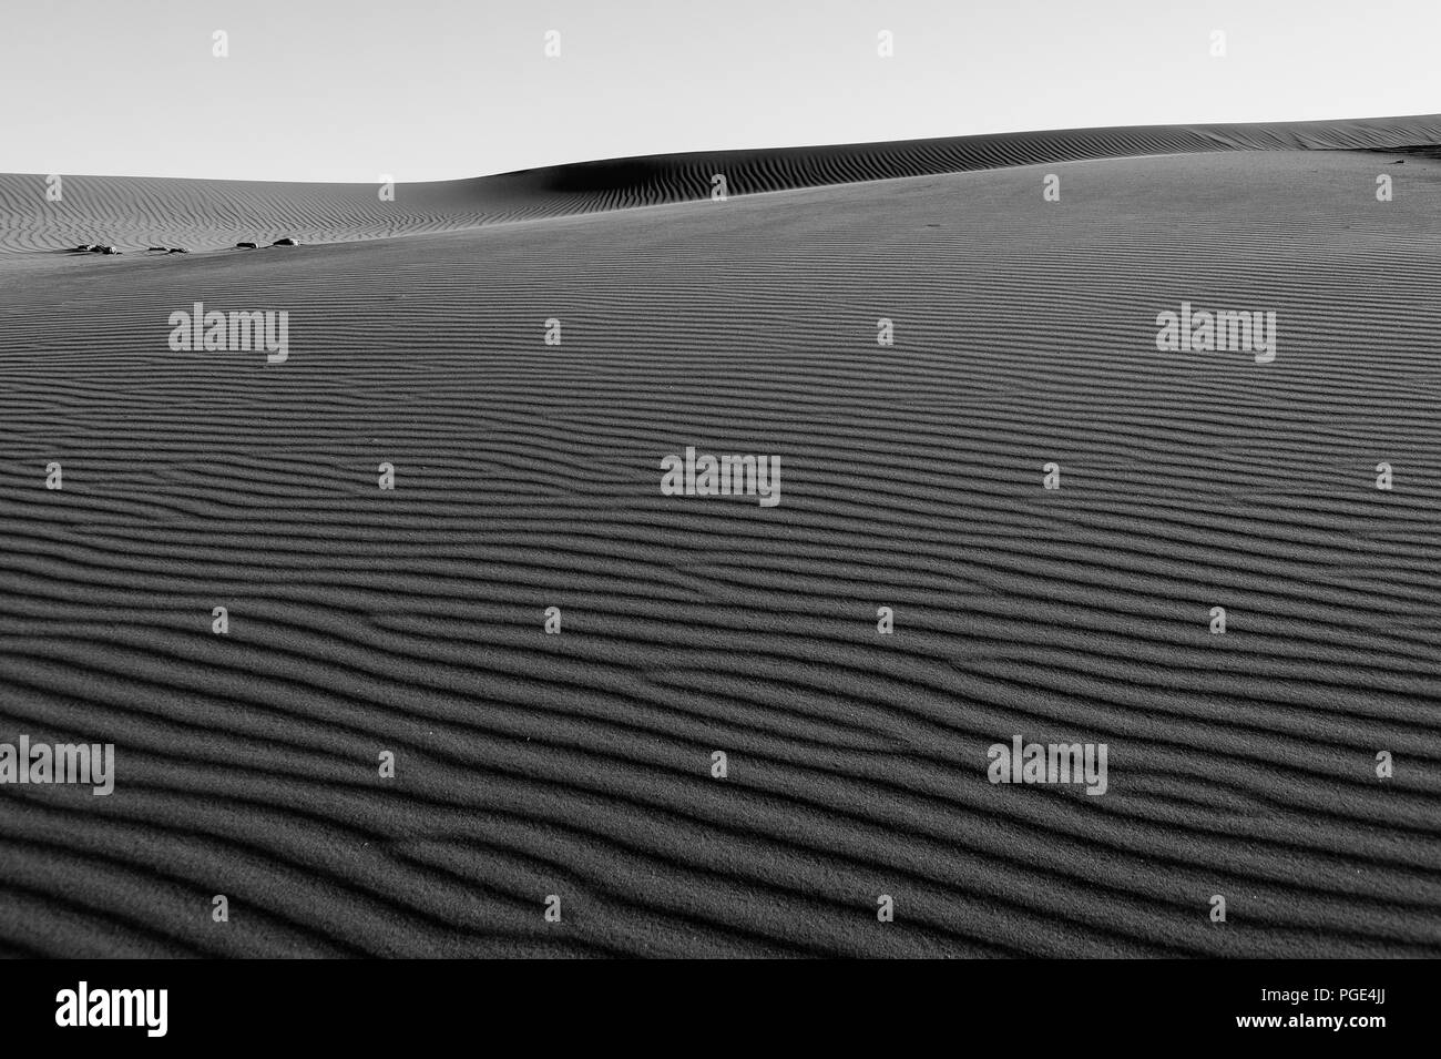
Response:
[{"label": "pale clear sky above the dune ridge", "polygon": [[1438,37],[1441,0],[4,0],[0,171],[403,183],[1432,114]]}]

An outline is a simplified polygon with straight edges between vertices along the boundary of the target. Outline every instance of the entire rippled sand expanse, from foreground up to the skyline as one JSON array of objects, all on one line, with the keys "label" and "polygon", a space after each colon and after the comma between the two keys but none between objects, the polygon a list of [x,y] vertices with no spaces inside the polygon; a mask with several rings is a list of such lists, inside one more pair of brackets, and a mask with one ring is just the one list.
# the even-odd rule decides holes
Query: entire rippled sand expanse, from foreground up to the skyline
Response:
[{"label": "entire rippled sand expanse, from foreground up to the skyline", "polygon": [[[0,787],[0,952],[1441,955],[1435,144],[0,177],[0,741],[117,774]],[[664,496],[692,445],[781,503]]]}]

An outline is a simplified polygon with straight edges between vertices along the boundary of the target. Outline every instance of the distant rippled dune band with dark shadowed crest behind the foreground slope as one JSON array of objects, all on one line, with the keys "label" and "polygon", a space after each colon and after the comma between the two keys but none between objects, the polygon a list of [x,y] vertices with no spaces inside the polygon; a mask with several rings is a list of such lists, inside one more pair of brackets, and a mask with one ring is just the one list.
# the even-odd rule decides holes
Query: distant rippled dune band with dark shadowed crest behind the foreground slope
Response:
[{"label": "distant rippled dune band with dark shadowed crest behind the foreground slope", "polygon": [[477,225],[1084,158],[1235,150],[1378,150],[1441,143],[1441,115],[1353,121],[1141,125],[944,140],[710,151],[552,166],[471,180],[379,184],[0,176],[0,254],[84,242],[218,249],[241,241],[350,242]]}]

